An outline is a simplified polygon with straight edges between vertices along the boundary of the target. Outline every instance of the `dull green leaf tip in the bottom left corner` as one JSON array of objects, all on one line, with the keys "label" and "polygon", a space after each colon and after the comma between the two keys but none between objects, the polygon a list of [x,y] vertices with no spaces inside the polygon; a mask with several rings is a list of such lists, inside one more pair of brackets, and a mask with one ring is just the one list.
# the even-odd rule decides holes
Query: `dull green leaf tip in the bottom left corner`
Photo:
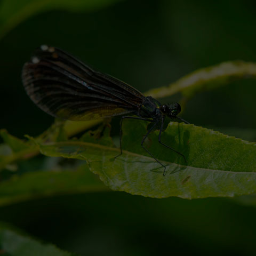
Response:
[{"label": "dull green leaf tip in the bottom left corner", "polygon": [[58,249],[52,244],[45,244],[21,234],[0,223],[0,254],[13,256],[75,256]]}]

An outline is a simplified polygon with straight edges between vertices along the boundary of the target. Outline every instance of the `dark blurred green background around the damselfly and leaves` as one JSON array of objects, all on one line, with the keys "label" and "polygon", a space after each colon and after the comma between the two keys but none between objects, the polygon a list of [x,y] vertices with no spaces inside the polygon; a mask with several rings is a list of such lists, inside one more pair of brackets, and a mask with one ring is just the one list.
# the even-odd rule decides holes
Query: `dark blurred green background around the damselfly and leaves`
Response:
[{"label": "dark blurred green background around the damselfly and leaves", "polygon": [[[22,138],[53,122],[21,83],[22,65],[39,45],[60,47],[144,92],[222,61],[256,61],[255,27],[254,1],[134,0],[90,12],[37,14],[0,42],[0,128]],[[196,95],[182,117],[253,141],[255,95],[252,79],[230,83]],[[0,220],[81,255],[250,255],[256,209],[241,202],[109,192],[1,207]]]}]

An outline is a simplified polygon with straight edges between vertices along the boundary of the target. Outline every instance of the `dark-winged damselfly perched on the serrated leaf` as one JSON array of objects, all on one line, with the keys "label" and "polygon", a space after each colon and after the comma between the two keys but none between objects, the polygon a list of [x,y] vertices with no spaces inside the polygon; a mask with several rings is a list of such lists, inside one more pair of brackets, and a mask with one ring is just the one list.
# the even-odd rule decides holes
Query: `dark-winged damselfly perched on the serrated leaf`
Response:
[{"label": "dark-winged damselfly perched on the serrated leaf", "polygon": [[[161,141],[166,117],[185,120],[177,115],[179,103],[161,105],[153,97],[145,97],[132,86],[86,66],[62,50],[42,45],[22,69],[22,81],[27,94],[46,113],[72,121],[86,121],[123,115],[120,123],[120,154],[122,155],[123,119],[132,118],[153,125],[141,141],[141,146],[156,162],[166,167],[143,146],[148,134],[159,125],[158,142],[182,156]],[[127,116],[127,115],[136,115]]]}]

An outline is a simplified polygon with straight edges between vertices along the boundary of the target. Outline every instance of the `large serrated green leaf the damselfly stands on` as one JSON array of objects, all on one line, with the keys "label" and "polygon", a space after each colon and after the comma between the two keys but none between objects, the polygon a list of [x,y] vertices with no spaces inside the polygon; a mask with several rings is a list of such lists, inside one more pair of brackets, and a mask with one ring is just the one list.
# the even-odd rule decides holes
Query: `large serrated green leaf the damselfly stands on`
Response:
[{"label": "large serrated green leaf the damselfly stands on", "polygon": [[235,137],[203,127],[171,122],[162,141],[184,154],[183,158],[157,142],[151,133],[145,146],[166,165],[163,168],[140,147],[146,124],[127,120],[123,130],[123,155],[100,141],[71,140],[41,144],[42,154],[83,159],[111,189],[148,197],[203,198],[256,192],[256,147]]}]

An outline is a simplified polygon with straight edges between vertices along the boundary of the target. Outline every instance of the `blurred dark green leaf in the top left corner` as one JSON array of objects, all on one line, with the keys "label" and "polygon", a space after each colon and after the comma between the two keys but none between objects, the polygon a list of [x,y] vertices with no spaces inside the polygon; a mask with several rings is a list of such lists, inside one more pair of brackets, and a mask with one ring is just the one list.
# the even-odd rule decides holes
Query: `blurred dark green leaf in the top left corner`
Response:
[{"label": "blurred dark green leaf in the top left corner", "polygon": [[0,38],[32,15],[49,10],[92,11],[120,0],[2,0]]}]

